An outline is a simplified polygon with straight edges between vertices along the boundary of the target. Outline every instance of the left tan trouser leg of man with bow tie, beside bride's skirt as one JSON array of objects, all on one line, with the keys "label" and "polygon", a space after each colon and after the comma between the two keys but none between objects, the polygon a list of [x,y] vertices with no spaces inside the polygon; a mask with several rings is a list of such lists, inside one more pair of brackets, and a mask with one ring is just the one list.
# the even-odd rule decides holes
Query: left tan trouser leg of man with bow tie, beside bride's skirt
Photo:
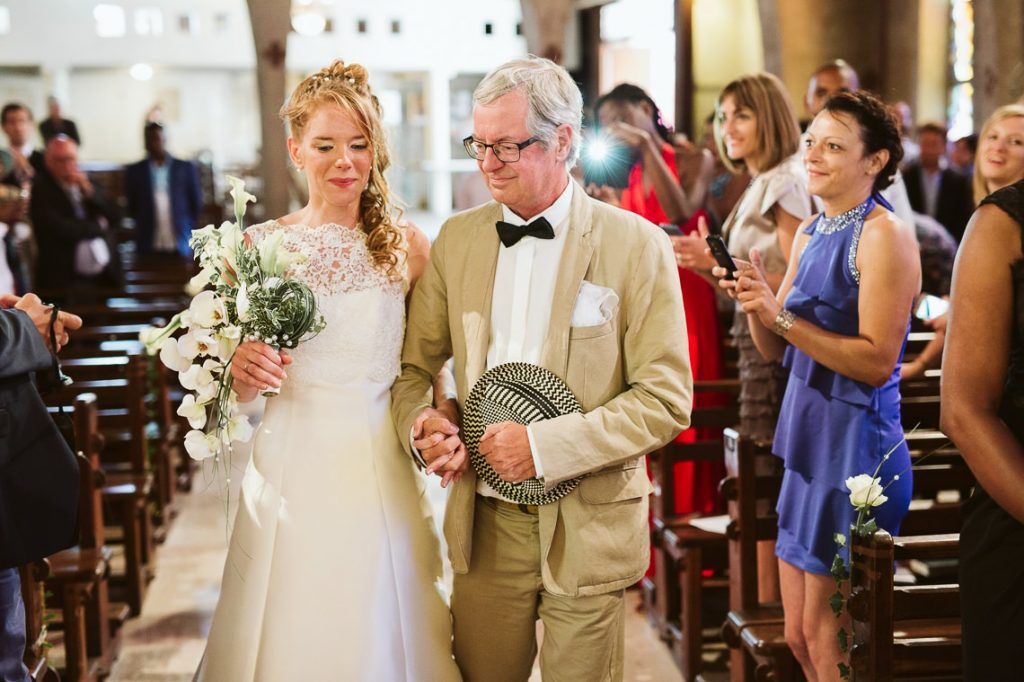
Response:
[{"label": "left tan trouser leg of man with bow tie, beside bride's skirt", "polygon": [[466,682],[525,682],[537,656],[538,517],[477,497],[468,573],[452,593],[455,659]]}]

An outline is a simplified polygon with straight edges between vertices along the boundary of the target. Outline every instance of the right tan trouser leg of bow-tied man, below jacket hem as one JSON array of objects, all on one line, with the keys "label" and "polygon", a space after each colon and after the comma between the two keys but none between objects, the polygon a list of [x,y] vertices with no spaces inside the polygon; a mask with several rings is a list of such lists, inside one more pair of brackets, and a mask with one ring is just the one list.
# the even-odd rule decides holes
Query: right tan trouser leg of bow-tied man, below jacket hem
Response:
[{"label": "right tan trouser leg of bow-tied man, below jacket hem", "polygon": [[625,591],[589,597],[541,594],[545,682],[617,682],[626,648]]}]

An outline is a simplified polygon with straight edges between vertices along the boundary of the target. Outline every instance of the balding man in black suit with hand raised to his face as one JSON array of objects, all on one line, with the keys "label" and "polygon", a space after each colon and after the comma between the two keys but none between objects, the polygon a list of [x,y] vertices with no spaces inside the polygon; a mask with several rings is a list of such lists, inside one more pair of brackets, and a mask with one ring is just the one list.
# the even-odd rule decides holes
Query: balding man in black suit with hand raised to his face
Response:
[{"label": "balding man in black suit with hand raised to his face", "polygon": [[32,184],[29,213],[39,243],[41,289],[121,285],[113,229],[120,215],[78,167],[78,144],[57,135]]}]

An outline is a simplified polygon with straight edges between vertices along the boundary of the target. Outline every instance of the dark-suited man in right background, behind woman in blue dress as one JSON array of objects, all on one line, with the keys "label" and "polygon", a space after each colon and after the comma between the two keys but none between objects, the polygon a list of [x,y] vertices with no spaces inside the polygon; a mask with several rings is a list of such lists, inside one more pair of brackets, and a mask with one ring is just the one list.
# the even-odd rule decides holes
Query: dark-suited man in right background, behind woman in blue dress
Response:
[{"label": "dark-suited man in right background, behind woman in blue dress", "polygon": [[910,206],[938,220],[959,242],[974,210],[971,180],[947,168],[944,127],[937,123],[921,126],[918,144],[918,159],[903,169]]}]

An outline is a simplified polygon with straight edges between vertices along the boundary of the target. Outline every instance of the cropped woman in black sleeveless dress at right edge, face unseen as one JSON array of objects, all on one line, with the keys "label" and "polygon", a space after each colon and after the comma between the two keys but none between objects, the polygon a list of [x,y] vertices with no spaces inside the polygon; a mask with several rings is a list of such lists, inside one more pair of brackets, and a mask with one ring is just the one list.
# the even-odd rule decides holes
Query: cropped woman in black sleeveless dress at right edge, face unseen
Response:
[{"label": "cropped woman in black sleeveless dress at right edge, face unseen", "polygon": [[1024,675],[1024,180],[987,197],[953,268],[942,429],[978,484],[961,532],[965,679]]}]

